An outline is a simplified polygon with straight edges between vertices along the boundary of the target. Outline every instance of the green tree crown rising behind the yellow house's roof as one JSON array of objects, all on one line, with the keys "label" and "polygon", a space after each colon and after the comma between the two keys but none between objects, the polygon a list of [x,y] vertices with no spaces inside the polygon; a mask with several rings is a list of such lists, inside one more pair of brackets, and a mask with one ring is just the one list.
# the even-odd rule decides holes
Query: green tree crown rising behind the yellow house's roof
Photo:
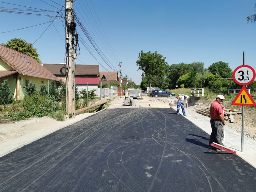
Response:
[{"label": "green tree crown rising behind the yellow house's roof", "polygon": [[38,63],[42,63],[41,60],[39,59],[39,54],[36,51],[36,48],[33,47],[31,43],[27,43],[25,40],[21,38],[14,38],[10,39],[6,44],[2,44],[6,47],[9,47],[11,49],[14,49],[18,52],[24,53],[28,56],[33,57]]}]

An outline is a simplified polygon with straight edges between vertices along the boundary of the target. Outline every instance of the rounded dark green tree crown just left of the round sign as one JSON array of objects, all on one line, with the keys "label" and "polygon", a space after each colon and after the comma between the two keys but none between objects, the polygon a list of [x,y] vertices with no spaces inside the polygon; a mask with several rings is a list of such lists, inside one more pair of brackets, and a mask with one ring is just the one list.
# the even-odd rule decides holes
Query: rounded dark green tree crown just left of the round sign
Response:
[{"label": "rounded dark green tree crown just left of the round sign", "polygon": [[213,75],[219,74],[222,78],[232,78],[233,72],[228,65],[228,63],[222,61],[212,63],[212,65],[208,67],[208,71]]}]

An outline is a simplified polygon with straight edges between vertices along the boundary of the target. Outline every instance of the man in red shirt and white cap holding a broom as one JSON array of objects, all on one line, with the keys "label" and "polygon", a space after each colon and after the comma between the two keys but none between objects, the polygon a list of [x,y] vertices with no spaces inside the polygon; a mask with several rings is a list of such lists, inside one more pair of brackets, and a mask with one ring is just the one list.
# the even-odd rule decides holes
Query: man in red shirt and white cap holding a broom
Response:
[{"label": "man in red shirt and white cap holding a broom", "polygon": [[214,150],[220,150],[217,148],[214,148],[211,146],[212,142],[221,144],[221,141],[223,140],[224,134],[223,134],[223,125],[225,125],[225,119],[223,114],[224,106],[222,107],[220,104],[223,103],[224,100],[223,95],[217,95],[216,100],[212,102],[211,108],[210,108],[210,114],[211,114],[211,127],[212,127],[212,133],[210,135],[209,140],[209,148]]}]

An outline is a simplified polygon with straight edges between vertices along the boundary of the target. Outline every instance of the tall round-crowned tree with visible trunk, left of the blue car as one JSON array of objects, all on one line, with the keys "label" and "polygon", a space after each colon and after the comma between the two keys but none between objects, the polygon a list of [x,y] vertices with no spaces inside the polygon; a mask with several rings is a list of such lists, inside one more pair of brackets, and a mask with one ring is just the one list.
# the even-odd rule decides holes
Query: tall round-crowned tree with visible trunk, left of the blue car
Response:
[{"label": "tall round-crowned tree with visible trunk, left of the blue car", "polygon": [[163,76],[167,75],[169,65],[165,61],[165,57],[157,53],[157,51],[151,53],[144,53],[141,51],[139,53],[139,59],[136,61],[138,70],[142,70],[142,77],[148,76],[149,80],[149,90],[151,90],[152,80],[154,76],[162,74]]}]

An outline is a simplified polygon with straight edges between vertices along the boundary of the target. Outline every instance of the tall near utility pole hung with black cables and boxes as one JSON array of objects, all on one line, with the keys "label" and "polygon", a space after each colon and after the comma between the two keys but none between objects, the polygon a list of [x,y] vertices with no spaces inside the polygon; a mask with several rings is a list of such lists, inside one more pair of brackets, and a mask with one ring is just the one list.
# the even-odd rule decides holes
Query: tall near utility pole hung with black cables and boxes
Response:
[{"label": "tall near utility pole hung with black cables and boxes", "polygon": [[68,68],[68,75],[66,79],[67,84],[67,114],[70,117],[75,117],[76,113],[76,98],[75,98],[75,44],[74,33],[76,31],[76,23],[74,22],[73,1],[65,0],[66,13],[66,67]]}]

